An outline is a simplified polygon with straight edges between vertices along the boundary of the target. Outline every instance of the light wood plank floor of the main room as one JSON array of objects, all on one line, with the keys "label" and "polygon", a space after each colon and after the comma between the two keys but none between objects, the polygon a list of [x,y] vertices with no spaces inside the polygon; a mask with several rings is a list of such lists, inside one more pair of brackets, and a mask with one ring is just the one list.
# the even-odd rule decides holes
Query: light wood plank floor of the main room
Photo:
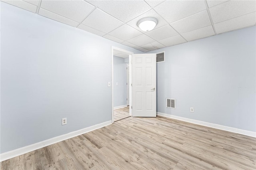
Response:
[{"label": "light wood plank floor of the main room", "polygon": [[256,139],[162,117],[129,117],[3,161],[1,170],[255,170]]}]

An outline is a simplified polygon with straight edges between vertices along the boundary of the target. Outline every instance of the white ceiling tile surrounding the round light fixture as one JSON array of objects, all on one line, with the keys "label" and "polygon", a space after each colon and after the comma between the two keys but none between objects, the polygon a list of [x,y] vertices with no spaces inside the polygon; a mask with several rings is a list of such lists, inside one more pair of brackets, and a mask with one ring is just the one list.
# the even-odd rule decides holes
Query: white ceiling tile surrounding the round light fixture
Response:
[{"label": "white ceiling tile surrounding the round light fixture", "polygon": [[160,28],[162,26],[165,26],[168,24],[168,22],[166,22],[161,16],[159,16],[154,10],[149,10],[148,12],[145,12],[144,14],[138,16],[137,18],[134,18],[133,20],[127,22],[126,24],[132,26],[133,28],[141,31],[141,32],[146,32],[146,31],[142,31],[140,30],[140,28],[137,26],[137,22],[142,19],[142,18],[145,18],[145,17],[154,17],[158,20],[158,24],[156,25],[156,28]]}]

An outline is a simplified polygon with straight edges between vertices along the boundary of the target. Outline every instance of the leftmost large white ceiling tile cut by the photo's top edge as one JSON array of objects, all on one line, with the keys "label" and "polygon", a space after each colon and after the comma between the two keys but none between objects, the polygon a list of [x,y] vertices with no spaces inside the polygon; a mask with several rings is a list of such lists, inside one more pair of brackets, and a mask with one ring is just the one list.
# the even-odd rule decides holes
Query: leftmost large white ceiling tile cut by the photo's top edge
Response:
[{"label": "leftmost large white ceiling tile cut by the photo's top edge", "polygon": [[82,22],[94,9],[84,0],[42,0],[40,7],[76,22]]}]

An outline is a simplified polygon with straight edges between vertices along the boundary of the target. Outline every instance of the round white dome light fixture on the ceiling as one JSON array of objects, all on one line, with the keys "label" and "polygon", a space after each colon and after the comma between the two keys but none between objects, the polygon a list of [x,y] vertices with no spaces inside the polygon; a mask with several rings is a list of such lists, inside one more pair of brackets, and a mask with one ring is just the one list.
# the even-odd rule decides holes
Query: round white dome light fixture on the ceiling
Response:
[{"label": "round white dome light fixture on the ceiling", "polygon": [[151,31],[155,28],[156,24],[158,23],[156,18],[153,17],[146,17],[142,18],[138,21],[137,26],[142,31]]}]

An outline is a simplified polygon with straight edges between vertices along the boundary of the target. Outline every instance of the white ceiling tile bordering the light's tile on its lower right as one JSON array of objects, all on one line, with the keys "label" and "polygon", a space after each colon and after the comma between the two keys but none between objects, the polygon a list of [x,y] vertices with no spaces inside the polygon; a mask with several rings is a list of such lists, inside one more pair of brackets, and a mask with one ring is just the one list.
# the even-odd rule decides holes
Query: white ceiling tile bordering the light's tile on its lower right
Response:
[{"label": "white ceiling tile bordering the light's tile on its lower right", "polygon": [[161,28],[146,33],[146,35],[150,36],[151,38],[157,41],[175,36],[177,34],[178,33],[169,25],[163,26]]}]

